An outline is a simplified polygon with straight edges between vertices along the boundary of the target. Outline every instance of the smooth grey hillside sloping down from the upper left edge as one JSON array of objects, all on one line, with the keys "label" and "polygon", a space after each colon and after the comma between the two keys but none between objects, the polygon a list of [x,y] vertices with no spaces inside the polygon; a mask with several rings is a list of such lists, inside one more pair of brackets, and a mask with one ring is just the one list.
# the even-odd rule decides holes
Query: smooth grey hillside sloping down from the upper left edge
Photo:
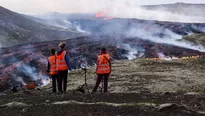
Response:
[{"label": "smooth grey hillside sloping down from the upper left edge", "polygon": [[0,6],[0,47],[79,36],[77,31],[45,25]]}]

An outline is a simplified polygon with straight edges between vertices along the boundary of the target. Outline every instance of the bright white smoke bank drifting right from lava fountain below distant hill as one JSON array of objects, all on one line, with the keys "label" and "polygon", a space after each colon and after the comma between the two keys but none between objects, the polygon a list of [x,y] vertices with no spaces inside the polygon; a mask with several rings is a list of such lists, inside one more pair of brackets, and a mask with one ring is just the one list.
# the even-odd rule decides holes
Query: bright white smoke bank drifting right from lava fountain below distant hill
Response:
[{"label": "bright white smoke bank drifting right from lava fountain below distant hill", "polygon": [[[121,9],[121,10],[119,10]],[[191,10],[194,9],[190,9]],[[128,6],[126,4],[118,4],[112,7],[108,15],[118,18],[136,18],[157,21],[170,21],[170,22],[186,22],[186,23],[204,23],[204,16],[189,16],[178,13],[171,13],[162,10],[146,10],[142,7]]]}]

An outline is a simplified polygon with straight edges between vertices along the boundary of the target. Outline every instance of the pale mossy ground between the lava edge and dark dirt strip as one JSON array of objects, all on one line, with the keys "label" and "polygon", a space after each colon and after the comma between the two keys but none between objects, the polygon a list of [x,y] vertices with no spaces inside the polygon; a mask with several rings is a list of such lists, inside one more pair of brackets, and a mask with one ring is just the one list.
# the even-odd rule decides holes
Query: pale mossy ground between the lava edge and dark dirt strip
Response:
[{"label": "pale mossy ground between the lava edge and dark dirt strip", "polygon": [[[204,92],[205,60],[145,60],[114,61],[109,78],[111,93],[164,93]],[[87,71],[90,89],[96,80],[95,68]],[[69,90],[84,83],[84,71],[74,70],[69,74]]]}]

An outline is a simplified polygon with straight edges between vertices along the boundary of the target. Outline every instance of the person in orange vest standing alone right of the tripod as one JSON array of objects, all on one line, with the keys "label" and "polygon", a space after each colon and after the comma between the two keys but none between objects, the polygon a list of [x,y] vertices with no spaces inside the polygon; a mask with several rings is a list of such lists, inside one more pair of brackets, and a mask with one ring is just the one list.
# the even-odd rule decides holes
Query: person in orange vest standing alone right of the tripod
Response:
[{"label": "person in orange vest standing alone right of the tripod", "polygon": [[101,49],[101,54],[97,59],[96,73],[98,75],[95,87],[92,92],[96,92],[102,78],[104,77],[104,92],[108,92],[108,77],[111,73],[111,58],[106,52],[106,48]]}]

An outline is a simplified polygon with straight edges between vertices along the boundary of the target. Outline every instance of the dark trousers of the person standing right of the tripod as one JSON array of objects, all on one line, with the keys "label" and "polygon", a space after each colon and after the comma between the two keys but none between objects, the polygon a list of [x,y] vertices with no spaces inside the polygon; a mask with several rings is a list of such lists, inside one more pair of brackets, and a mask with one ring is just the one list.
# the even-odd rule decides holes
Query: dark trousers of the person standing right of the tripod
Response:
[{"label": "dark trousers of the person standing right of the tripod", "polygon": [[103,80],[103,77],[104,77],[104,92],[107,92],[109,75],[110,75],[109,73],[108,74],[98,74],[97,81],[96,81],[95,87],[93,89],[93,92],[97,91],[97,89],[100,85],[100,82]]}]

